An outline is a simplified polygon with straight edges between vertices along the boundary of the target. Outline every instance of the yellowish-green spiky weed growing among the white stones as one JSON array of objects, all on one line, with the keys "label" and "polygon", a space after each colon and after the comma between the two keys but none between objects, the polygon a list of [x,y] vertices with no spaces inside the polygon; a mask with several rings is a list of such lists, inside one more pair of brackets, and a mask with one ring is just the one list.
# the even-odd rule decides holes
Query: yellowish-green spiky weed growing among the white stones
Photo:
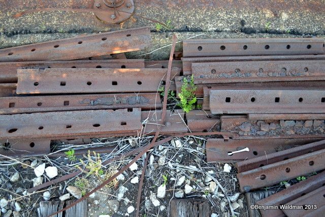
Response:
[{"label": "yellowish-green spiky weed growing among the white stones", "polygon": [[[84,155],[84,158],[88,159],[88,163],[84,163],[82,159],[80,159],[81,164],[83,165],[83,167],[85,167],[86,169],[88,169],[88,171],[83,170],[81,167],[77,166],[77,168],[81,171],[83,171],[84,173],[86,173],[86,176],[89,176],[91,174],[95,174],[97,177],[100,178],[101,176],[101,172],[102,170],[102,160],[100,157],[100,154],[96,154],[96,152],[93,151],[93,155],[95,157],[95,160],[91,159],[91,155],[90,155],[90,151],[88,150],[88,154],[87,156]],[[103,171],[104,174],[104,171]]]}]

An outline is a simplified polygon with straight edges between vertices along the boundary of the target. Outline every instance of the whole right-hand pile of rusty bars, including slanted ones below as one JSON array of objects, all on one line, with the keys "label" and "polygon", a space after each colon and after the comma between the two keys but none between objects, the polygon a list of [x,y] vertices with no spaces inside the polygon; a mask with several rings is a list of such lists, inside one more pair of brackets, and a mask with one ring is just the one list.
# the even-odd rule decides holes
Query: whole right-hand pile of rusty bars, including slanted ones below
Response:
[{"label": "whole right-hand pile of rusty bars, including slanted ones below", "polygon": [[[222,114],[221,131],[240,135],[208,139],[206,151],[210,163],[237,162],[242,192],[325,169],[323,40],[189,40],[183,54],[203,109]],[[320,216],[324,181],[322,172],[266,199],[250,196],[250,216]]]}]

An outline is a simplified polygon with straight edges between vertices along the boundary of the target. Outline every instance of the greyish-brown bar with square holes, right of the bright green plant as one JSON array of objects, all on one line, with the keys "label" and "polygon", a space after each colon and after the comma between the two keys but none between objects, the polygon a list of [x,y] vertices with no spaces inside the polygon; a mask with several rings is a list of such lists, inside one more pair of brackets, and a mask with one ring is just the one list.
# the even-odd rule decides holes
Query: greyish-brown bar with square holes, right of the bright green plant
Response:
[{"label": "greyish-brown bar with square holes, right of the bright green plant", "polygon": [[301,88],[211,88],[213,114],[322,113],[325,91]]}]

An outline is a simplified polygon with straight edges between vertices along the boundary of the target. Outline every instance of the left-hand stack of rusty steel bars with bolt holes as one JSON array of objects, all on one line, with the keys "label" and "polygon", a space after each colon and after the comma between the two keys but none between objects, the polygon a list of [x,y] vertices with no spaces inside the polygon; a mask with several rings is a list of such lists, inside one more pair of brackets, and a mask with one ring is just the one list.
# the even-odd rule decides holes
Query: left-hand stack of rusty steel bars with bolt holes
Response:
[{"label": "left-hand stack of rusty steel bars with bolt holes", "polygon": [[[0,50],[0,154],[42,156],[53,140],[154,134],[167,63],[123,54],[150,41],[141,27]],[[183,112],[167,112],[161,134],[187,133]]]}]

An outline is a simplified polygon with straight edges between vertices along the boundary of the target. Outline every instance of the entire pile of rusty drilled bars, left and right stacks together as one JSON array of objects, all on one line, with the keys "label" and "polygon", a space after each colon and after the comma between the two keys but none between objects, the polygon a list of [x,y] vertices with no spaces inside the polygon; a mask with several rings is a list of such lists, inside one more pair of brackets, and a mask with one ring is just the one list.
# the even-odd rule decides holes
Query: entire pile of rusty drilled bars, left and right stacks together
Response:
[{"label": "entire pile of rusty drilled bars, left and right stacks together", "polygon": [[[169,110],[161,127],[157,91],[169,83],[167,62],[121,55],[150,40],[143,27],[0,50],[0,153],[42,156],[52,140],[201,133],[222,135],[207,140],[208,162],[239,162],[243,192],[325,169],[323,40],[184,41],[170,89],[179,96],[192,79],[204,110]],[[258,204],[306,204],[317,195],[325,207],[323,181],[317,174]]]}]

